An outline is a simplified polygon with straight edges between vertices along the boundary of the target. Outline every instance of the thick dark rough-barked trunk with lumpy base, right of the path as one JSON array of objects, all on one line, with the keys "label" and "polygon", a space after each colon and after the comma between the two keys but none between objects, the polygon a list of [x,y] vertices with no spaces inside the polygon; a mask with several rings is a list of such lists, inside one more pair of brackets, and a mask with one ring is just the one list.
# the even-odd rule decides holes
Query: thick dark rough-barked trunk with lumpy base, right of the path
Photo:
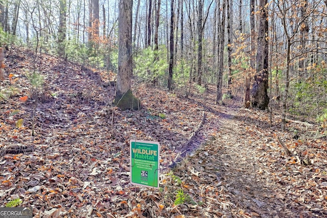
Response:
[{"label": "thick dark rough-barked trunk with lumpy base, right of the path", "polygon": [[258,50],[256,53],[256,74],[252,85],[252,106],[266,109],[269,104],[268,97],[268,13],[267,0],[260,0],[260,14],[258,27]]}]

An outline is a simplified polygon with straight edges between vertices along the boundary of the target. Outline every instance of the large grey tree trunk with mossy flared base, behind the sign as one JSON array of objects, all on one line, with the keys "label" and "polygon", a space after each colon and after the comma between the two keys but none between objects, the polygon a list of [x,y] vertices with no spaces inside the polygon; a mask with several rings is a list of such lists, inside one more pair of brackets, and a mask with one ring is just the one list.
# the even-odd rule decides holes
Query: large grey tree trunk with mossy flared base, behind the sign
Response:
[{"label": "large grey tree trunk with mossy flared base, behind the sign", "polygon": [[138,110],[140,102],[131,91],[132,65],[132,8],[133,1],[119,1],[118,77],[114,104],[122,110]]}]

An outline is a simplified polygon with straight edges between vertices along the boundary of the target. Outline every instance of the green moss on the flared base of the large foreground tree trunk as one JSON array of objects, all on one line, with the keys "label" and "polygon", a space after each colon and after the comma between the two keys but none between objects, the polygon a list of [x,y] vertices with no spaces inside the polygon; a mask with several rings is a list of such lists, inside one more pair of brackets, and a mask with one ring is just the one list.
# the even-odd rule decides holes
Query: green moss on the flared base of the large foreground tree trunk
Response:
[{"label": "green moss on the flared base of the large foreground tree trunk", "polygon": [[113,104],[122,110],[139,110],[141,108],[141,101],[135,98],[130,89],[122,96],[116,95]]}]

